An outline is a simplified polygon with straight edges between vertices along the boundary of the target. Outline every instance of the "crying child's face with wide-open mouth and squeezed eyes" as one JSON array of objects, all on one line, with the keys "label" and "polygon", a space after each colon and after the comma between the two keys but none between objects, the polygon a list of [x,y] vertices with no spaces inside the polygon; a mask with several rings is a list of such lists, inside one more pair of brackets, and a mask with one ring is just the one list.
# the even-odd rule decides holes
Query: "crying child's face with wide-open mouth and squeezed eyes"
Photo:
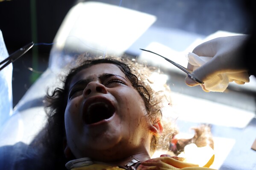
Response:
[{"label": "crying child's face with wide-open mouth and squeezed eyes", "polygon": [[118,66],[100,63],[71,80],[65,109],[66,149],[76,158],[111,161],[149,153],[144,102]]}]

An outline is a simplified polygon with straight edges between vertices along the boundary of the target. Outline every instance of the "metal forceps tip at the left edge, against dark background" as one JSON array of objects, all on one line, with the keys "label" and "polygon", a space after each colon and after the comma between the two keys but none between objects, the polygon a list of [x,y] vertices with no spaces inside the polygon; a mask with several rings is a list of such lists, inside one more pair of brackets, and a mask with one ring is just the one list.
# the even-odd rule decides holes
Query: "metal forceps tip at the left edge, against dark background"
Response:
[{"label": "metal forceps tip at the left edge, against dark background", "polygon": [[20,49],[18,49],[17,51],[15,51],[14,53],[12,53],[11,55],[9,55],[8,58],[4,59],[3,61],[1,61],[0,63],[0,71],[5,68],[6,66],[8,66],[10,63],[13,63],[14,61],[16,61],[18,58],[20,58],[22,55],[24,55],[27,51],[29,51],[29,49],[32,48],[32,46],[34,45],[33,42],[27,44],[26,46],[21,47]]}]

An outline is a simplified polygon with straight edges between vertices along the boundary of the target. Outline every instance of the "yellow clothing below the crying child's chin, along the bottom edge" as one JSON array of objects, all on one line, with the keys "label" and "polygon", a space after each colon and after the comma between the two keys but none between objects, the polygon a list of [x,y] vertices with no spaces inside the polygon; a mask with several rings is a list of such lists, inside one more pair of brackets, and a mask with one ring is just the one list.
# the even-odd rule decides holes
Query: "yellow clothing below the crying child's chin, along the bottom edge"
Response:
[{"label": "yellow clothing below the crying child's chin, along the bottom edge", "polygon": [[[198,167],[197,164],[179,161],[172,157],[159,157],[141,162],[137,170],[213,170],[207,167]],[[85,167],[77,167],[72,170],[124,170],[106,164],[91,164]]]}]

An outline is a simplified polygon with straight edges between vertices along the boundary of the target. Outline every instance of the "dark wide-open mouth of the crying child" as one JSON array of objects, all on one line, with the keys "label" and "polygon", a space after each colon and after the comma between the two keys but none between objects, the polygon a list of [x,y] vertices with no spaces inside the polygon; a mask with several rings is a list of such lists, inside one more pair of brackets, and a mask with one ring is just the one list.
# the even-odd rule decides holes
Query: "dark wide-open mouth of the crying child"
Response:
[{"label": "dark wide-open mouth of the crying child", "polygon": [[111,118],[115,113],[115,107],[107,101],[97,101],[85,107],[83,120],[85,124],[94,124]]}]

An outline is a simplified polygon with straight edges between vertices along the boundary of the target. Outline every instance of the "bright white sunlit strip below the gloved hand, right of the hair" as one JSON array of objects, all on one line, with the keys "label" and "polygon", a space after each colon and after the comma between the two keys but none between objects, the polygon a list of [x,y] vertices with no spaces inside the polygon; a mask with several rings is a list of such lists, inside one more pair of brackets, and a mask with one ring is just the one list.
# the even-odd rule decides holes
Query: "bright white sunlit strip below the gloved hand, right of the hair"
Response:
[{"label": "bright white sunlit strip below the gloved hand, right of the hair", "polygon": [[194,123],[207,123],[224,127],[244,128],[255,117],[255,113],[230,107],[202,98],[172,92],[172,107],[164,113],[173,119]]}]

